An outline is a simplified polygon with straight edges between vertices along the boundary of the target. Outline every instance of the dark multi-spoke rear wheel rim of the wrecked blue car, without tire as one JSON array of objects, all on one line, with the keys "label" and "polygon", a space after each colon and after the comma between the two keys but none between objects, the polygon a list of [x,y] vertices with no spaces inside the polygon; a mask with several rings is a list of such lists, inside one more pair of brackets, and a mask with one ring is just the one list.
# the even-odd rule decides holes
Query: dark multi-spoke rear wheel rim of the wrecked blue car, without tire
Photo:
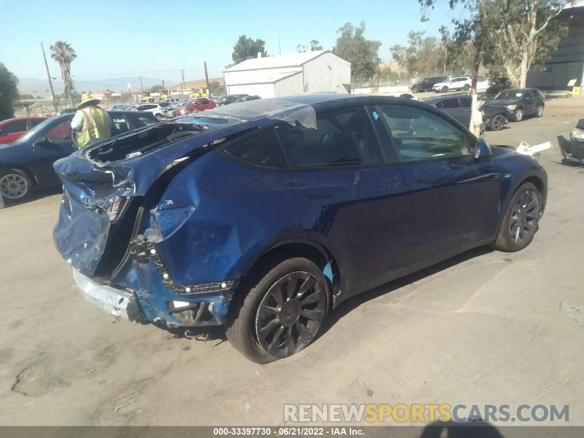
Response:
[{"label": "dark multi-spoke rear wheel rim of the wrecked blue car, without tire", "polygon": [[269,288],[256,312],[260,348],[275,357],[299,352],[314,339],[325,311],[326,292],[317,277],[287,274]]}]

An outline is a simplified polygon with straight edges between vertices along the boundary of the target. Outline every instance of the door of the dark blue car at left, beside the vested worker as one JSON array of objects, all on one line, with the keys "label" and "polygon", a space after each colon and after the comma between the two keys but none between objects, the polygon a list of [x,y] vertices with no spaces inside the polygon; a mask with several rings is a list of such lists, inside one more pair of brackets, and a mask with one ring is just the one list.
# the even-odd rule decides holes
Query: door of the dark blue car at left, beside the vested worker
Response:
[{"label": "door of the dark blue car at left, beside the vested worker", "polygon": [[34,172],[39,185],[58,182],[53,163],[67,157],[75,151],[75,144],[71,138],[71,120],[73,114],[65,119],[55,120],[35,138],[31,138],[32,157],[30,168]]}]

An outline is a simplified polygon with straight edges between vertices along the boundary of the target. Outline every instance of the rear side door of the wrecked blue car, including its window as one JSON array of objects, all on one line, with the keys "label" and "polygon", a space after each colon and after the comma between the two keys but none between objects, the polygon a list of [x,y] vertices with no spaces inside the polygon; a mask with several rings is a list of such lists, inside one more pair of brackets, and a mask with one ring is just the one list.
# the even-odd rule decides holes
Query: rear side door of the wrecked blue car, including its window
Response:
[{"label": "rear side door of the wrecked blue car, including its window", "polygon": [[289,171],[279,174],[311,241],[342,272],[343,290],[407,265],[411,194],[386,166],[370,114],[352,106],[317,114],[317,129],[279,126]]}]

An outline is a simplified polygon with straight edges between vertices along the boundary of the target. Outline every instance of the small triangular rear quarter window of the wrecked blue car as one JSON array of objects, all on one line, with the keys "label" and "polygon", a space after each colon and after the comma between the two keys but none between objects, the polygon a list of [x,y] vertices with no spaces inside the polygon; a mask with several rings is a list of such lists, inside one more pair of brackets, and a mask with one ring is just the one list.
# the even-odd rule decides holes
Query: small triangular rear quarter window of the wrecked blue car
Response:
[{"label": "small triangular rear quarter window of the wrecked blue car", "polygon": [[277,169],[288,168],[280,140],[273,129],[246,138],[225,152],[250,164]]}]

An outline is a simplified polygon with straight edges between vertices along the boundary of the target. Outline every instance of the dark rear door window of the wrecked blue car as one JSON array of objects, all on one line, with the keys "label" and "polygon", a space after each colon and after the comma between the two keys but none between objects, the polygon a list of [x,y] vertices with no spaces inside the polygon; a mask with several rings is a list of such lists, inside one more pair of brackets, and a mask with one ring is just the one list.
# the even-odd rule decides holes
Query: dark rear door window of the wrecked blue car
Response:
[{"label": "dark rear door window of the wrecked blue car", "polygon": [[317,128],[284,123],[276,128],[291,168],[375,165],[384,162],[364,107],[317,114]]}]

